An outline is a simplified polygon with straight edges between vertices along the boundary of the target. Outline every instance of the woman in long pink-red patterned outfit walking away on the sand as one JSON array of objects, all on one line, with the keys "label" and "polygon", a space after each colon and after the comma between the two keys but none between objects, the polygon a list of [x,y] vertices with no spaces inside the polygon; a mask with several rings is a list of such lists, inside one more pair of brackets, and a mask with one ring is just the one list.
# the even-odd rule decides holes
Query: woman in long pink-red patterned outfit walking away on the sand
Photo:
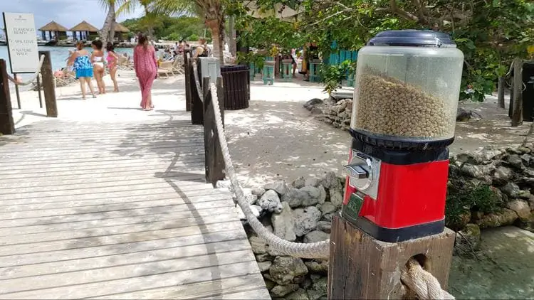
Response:
[{"label": "woman in long pink-red patterned outfit walking away on the sand", "polygon": [[141,108],[152,110],[152,83],[157,78],[156,50],[148,44],[147,36],[141,33],[137,36],[137,45],[134,48],[134,68],[141,87]]}]

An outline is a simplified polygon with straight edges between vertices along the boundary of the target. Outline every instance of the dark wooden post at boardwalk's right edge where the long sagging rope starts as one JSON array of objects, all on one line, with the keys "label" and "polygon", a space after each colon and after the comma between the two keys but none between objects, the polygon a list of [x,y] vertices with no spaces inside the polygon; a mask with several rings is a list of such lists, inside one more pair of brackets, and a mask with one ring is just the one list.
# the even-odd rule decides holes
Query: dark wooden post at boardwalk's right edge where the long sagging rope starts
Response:
[{"label": "dark wooden post at boardwalk's right edge where the long sagging rope starts", "polygon": [[[204,96],[204,156],[206,166],[206,182],[215,186],[217,181],[224,179],[224,158],[222,156],[219,134],[217,133],[213,99],[211,98],[210,79],[202,80]],[[219,80],[217,80],[219,82]],[[219,88],[217,88],[219,90]],[[217,97],[219,98],[219,97]]]}]

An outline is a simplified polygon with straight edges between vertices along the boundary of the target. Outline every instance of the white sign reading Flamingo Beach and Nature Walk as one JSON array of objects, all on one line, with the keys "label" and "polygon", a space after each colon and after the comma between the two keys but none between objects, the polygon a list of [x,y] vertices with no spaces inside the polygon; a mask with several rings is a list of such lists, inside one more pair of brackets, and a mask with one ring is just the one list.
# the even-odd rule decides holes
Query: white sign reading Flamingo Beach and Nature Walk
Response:
[{"label": "white sign reading Flamingo Beach and Nature Walk", "polygon": [[4,28],[11,72],[36,72],[39,53],[33,14],[4,13]]}]

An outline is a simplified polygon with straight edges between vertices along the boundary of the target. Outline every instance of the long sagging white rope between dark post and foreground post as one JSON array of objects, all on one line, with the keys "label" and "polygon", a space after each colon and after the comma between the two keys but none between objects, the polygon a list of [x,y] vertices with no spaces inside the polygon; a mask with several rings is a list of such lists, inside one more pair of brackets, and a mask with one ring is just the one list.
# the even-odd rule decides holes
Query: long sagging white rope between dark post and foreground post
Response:
[{"label": "long sagging white rope between dark post and foreground post", "polygon": [[248,224],[251,225],[252,229],[258,234],[259,237],[262,237],[264,240],[266,240],[269,247],[273,247],[278,252],[281,252],[281,254],[303,258],[328,258],[330,251],[330,240],[313,242],[309,244],[288,242],[287,240],[283,240],[269,232],[252,213],[251,207],[244,196],[243,189],[237,180],[236,171],[234,170],[234,165],[231,161],[228,144],[226,143],[226,135],[224,134],[221,111],[219,110],[219,100],[217,99],[216,92],[217,87],[214,83],[211,83],[210,90],[211,101],[213,103],[215,113],[215,124],[217,133],[219,134],[219,143],[221,144],[221,150],[224,157],[226,174],[230,178],[232,188],[236,193],[237,203],[239,204],[239,207],[241,207],[241,210],[243,210],[246,220],[248,220]]}]

